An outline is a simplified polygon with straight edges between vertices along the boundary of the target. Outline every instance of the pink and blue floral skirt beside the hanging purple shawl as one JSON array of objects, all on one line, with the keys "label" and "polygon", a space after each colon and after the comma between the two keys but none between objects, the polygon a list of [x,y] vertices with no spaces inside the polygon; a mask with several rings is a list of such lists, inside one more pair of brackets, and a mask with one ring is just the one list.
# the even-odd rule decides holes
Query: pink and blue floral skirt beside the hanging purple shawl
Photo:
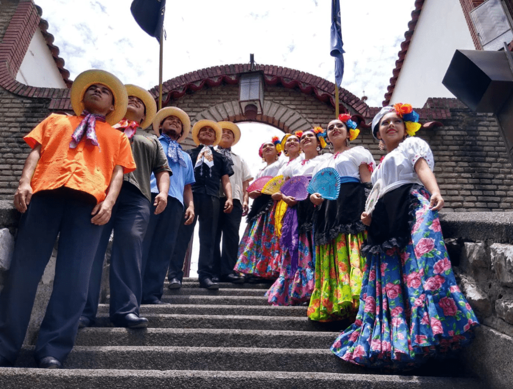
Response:
[{"label": "pink and blue floral skirt beside the hanging purple shawl", "polygon": [[310,232],[299,235],[298,268],[291,274],[288,249],[282,251],[280,277],[271,285],[265,296],[272,305],[300,305],[310,301],[313,290],[313,257]]}]

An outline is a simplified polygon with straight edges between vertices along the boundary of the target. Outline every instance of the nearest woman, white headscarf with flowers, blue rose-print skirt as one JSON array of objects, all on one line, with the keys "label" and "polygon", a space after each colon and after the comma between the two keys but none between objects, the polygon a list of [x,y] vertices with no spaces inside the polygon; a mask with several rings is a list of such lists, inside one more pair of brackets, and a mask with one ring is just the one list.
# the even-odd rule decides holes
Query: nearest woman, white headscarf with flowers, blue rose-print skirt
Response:
[{"label": "nearest woman, white headscarf with flowers, blue rose-print skirt", "polygon": [[381,187],[379,200],[371,214],[362,213],[369,228],[360,309],[331,347],[352,363],[417,366],[469,343],[479,325],[452,273],[433,155],[413,136],[418,119],[410,105],[396,104],[372,120],[372,134],[387,154],[371,178]]}]

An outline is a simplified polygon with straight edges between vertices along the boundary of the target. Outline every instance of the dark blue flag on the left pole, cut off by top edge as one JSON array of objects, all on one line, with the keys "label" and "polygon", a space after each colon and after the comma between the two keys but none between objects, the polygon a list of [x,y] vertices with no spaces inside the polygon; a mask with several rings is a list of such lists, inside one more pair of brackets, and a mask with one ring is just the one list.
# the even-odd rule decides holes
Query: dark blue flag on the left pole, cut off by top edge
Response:
[{"label": "dark blue flag on the left pole, cut off by top edge", "polygon": [[132,16],[137,24],[160,43],[164,26],[166,0],[133,0],[130,6]]}]

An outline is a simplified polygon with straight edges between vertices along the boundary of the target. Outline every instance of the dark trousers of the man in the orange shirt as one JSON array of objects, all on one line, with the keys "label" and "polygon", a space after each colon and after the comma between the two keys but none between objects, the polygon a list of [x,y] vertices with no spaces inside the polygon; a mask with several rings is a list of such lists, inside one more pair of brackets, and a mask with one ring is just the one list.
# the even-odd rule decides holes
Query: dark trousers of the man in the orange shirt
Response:
[{"label": "dark trousers of the man in the orange shirt", "polygon": [[[71,194],[70,194],[71,193]],[[76,193],[82,198],[76,197]],[[89,197],[88,201],[84,196]],[[35,193],[19,222],[14,255],[0,294],[0,355],[15,362],[30,321],[37,284],[57,234],[53,291],[35,346],[36,360],[63,361],[75,342],[94,253],[103,226],[91,223],[94,198],[60,188]]]}]

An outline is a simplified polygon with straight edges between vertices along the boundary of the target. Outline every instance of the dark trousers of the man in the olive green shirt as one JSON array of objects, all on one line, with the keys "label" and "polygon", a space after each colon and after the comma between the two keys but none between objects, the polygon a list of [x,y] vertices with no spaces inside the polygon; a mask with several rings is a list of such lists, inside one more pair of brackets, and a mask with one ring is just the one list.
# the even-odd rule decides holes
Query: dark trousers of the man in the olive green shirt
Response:
[{"label": "dark trousers of the man in the olive green shirt", "polygon": [[112,216],[105,226],[96,250],[83,316],[90,320],[96,317],[103,261],[112,230],[114,230],[114,239],[110,254],[109,316],[111,320],[115,320],[128,314],[139,315],[143,239],[150,219],[150,211],[151,204],[139,189],[128,182],[123,182],[120,195],[112,209]]}]

